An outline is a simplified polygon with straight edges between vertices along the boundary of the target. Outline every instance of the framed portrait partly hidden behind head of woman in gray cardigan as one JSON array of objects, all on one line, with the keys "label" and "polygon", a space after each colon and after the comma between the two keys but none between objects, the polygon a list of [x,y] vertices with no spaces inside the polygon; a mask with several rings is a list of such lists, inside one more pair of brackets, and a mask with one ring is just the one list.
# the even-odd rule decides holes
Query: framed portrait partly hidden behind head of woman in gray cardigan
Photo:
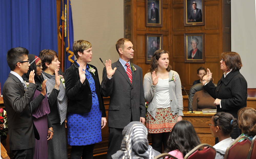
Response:
[{"label": "framed portrait partly hidden behind head of woman in gray cardigan", "polygon": [[146,34],[146,63],[150,63],[156,50],[163,48],[162,34]]}]

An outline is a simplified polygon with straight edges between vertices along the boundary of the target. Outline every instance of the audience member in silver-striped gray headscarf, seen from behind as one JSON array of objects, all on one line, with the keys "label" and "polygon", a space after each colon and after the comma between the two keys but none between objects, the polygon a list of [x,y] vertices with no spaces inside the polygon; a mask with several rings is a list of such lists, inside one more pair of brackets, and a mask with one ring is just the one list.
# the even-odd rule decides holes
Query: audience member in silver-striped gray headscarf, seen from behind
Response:
[{"label": "audience member in silver-striped gray headscarf, seen from behind", "polygon": [[130,122],[122,131],[121,150],[112,155],[113,159],[152,159],[160,153],[148,145],[147,128],[139,121]]}]

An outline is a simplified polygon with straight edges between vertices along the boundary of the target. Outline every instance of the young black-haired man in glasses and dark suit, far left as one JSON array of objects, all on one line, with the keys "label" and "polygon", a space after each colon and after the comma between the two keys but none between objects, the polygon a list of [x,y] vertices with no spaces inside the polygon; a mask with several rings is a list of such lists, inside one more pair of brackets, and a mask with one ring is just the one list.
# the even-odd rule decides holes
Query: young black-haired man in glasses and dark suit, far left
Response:
[{"label": "young black-haired man in glasses and dark suit, far left", "polygon": [[14,159],[32,159],[34,156],[35,138],[39,140],[39,134],[34,127],[31,112],[45,98],[46,93],[44,81],[42,93],[31,102],[37,85],[34,70],[29,74],[28,86],[22,79],[30,66],[27,55],[28,50],[22,47],[12,48],[7,52],[7,63],[11,72],[4,83],[3,100],[8,115],[9,147]]}]

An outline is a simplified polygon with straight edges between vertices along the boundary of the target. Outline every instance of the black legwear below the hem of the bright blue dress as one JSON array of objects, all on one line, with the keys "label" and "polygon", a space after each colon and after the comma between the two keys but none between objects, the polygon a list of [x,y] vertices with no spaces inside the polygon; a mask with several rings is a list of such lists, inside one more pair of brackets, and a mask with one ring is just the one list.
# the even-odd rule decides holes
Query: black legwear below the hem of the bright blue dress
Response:
[{"label": "black legwear below the hem of the bright blue dress", "polygon": [[72,146],[70,159],[81,159],[81,157],[82,159],[92,159],[94,145]]}]

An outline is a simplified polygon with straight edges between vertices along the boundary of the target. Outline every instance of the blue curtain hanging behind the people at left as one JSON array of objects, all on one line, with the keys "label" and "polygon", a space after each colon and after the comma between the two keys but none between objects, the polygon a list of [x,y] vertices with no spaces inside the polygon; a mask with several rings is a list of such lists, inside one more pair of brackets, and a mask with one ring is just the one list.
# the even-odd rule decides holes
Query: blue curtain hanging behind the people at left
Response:
[{"label": "blue curtain hanging behind the people at left", "polygon": [[43,49],[55,50],[57,42],[56,1],[4,0],[0,2],[0,82],[3,88],[10,68],[6,53],[24,47],[39,55]]}]

